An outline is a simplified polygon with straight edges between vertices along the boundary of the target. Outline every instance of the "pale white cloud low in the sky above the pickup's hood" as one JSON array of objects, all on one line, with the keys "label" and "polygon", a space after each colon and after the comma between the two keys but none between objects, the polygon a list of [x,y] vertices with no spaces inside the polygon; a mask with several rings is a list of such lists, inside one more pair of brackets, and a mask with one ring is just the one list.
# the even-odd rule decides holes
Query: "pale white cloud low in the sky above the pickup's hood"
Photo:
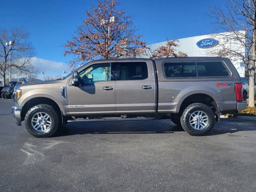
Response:
[{"label": "pale white cloud low in the sky above the pickup's hood", "polygon": [[34,57],[31,63],[39,69],[40,73],[45,72],[46,75],[50,76],[62,74],[63,71],[69,72],[67,64],[63,62]]}]

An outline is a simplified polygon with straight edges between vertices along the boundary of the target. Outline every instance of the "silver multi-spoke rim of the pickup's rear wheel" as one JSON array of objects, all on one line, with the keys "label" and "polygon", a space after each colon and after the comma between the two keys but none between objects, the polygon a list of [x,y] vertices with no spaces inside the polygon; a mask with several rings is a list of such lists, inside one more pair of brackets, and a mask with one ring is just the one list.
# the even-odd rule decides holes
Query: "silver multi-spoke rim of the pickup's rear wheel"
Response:
[{"label": "silver multi-spoke rim of the pickup's rear wheel", "polygon": [[208,125],[209,119],[205,112],[196,111],[190,115],[189,122],[192,128],[202,130]]}]

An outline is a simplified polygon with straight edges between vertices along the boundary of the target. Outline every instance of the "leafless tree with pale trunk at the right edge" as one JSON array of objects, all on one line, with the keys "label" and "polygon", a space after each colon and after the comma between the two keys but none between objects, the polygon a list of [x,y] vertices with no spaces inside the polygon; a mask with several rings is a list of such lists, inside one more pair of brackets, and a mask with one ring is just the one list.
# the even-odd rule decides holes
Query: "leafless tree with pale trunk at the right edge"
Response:
[{"label": "leafless tree with pale trunk at the right edge", "polygon": [[[249,73],[249,106],[254,107],[254,76],[256,61],[256,1],[228,0],[226,11],[219,7],[210,7],[210,16],[215,18],[216,34],[223,41],[220,49],[215,50],[219,56],[232,60],[241,59]],[[231,42],[234,46],[228,46]],[[212,52],[214,53],[214,52]]]}]

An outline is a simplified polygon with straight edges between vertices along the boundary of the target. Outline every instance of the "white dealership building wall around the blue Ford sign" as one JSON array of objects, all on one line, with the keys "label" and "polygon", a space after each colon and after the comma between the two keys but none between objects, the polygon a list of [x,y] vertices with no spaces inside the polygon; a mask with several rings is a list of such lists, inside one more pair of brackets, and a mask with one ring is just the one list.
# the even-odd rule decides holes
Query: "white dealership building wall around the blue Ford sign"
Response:
[{"label": "white dealership building wall around the blue Ford sign", "polygon": [[[230,32],[227,32],[230,33]],[[226,34],[227,34],[226,33]],[[176,51],[182,51],[186,53],[189,57],[198,57],[198,56],[216,56],[216,54],[211,54],[211,50],[220,50],[221,46],[220,44],[225,44],[225,46],[230,46],[231,48],[234,48],[234,50],[241,52],[242,54],[245,53],[245,48],[243,46],[240,46],[239,42],[231,41],[228,39],[223,39],[223,34],[218,35],[218,34],[209,34],[209,35],[201,35],[201,36],[194,36],[194,37],[188,37],[188,38],[182,38],[178,39],[179,42],[177,44],[179,47],[176,48]],[[214,38],[219,41],[219,44],[212,47],[212,48],[199,48],[196,43],[202,39],[206,38]],[[147,58],[149,58],[152,53],[160,46],[166,46],[166,42],[159,42],[155,44],[150,44],[148,47],[150,47],[150,50],[148,50]],[[140,57],[140,56],[137,56]],[[145,56],[141,56],[145,57]],[[242,60],[238,58],[229,58],[236,69],[238,70],[239,74],[241,77],[245,76],[245,69],[244,65],[242,63]]]}]

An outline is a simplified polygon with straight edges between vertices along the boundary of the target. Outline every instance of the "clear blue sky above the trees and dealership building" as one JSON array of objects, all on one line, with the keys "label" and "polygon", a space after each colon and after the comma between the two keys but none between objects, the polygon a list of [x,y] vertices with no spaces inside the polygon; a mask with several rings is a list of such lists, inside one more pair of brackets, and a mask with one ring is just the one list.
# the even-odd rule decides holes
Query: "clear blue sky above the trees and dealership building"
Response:
[{"label": "clear blue sky above the trees and dealership building", "polygon": [[[36,48],[34,64],[46,76],[68,70],[63,44],[72,38],[85,11],[96,0],[0,0],[0,26],[22,26],[31,33]],[[134,25],[147,44],[210,34],[208,6],[223,6],[225,0],[120,0],[120,8],[134,16]],[[40,77],[40,75],[39,75]]]}]

